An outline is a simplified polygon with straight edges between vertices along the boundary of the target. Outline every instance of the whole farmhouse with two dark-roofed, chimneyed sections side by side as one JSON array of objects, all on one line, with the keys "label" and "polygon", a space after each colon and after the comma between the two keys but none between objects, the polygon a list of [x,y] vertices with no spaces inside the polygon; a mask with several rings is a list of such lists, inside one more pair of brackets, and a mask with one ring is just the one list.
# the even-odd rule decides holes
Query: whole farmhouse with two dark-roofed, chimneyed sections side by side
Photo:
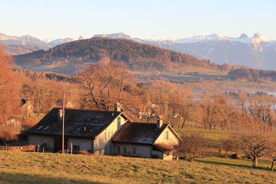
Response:
[{"label": "whole farmhouse with two dark-roofed, chimneyed sections side by side", "polygon": [[[62,150],[62,116],[60,108],[53,108],[28,130],[31,145],[40,145],[48,152]],[[134,123],[115,103],[114,111],[65,110],[64,148],[97,154],[121,154],[137,157],[171,159],[181,139],[172,127],[157,123]]]}]

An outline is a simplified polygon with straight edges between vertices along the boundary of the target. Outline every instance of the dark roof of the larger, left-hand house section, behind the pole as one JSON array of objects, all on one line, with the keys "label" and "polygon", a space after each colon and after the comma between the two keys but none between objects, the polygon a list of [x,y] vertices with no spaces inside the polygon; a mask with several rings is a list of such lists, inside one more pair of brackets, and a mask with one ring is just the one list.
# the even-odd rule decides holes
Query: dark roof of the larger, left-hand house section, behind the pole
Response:
[{"label": "dark roof of the larger, left-hand house section, behind the pole", "polygon": [[[46,116],[31,127],[28,134],[62,135],[62,121],[58,119],[60,108],[53,108]],[[97,110],[65,110],[65,136],[95,139],[99,133],[124,112]],[[124,116],[128,119],[126,116]]]}]

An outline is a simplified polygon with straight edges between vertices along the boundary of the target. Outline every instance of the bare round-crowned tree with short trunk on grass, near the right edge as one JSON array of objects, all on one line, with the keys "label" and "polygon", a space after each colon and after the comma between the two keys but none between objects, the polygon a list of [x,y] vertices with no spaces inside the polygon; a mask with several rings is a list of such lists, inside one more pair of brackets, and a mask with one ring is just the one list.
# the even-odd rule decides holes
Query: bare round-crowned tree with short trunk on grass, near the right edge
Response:
[{"label": "bare round-crowned tree with short trunk on grass, near the right edge", "polygon": [[264,156],[269,149],[267,136],[260,133],[244,133],[237,136],[236,140],[244,154],[253,161],[253,167],[257,167],[259,157]]}]

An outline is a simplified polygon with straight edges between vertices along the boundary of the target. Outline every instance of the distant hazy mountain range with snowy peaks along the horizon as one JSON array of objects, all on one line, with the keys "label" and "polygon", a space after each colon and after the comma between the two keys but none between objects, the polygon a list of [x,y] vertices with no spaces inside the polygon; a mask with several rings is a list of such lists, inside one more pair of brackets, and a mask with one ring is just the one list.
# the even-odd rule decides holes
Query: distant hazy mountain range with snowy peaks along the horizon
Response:
[{"label": "distant hazy mountain range with snowy peaks along the horizon", "polygon": [[[185,39],[139,39],[124,33],[95,34],[95,37],[111,39],[129,39],[139,43],[157,45],[161,48],[190,54],[199,59],[207,59],[218,64],[246,65],[257,69],[276,70],[276,40],[255,33],[253,37],[241,34],[240,37],[219,37],[217,34],[197,35]],[[83,39],[80,37],[79,39]],[[12,45],[33,45],[41,49],[48,49],[57,45],[74,41],[74,39],[56,39],[49,43],[31,36],[11,37],[0,34],[0,43]],[[12,46],[10,46],[12,47]],[[30,50],[31,52],[32,50]],[[25,54],[28,52],[14,53]],[[10,52],[12,54],[12,52]]]}]

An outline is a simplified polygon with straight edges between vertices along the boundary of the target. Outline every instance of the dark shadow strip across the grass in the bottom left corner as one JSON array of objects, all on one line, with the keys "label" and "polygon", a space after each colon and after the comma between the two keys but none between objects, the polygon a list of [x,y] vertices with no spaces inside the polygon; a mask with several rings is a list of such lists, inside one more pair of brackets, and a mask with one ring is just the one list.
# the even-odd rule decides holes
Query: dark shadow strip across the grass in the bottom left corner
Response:
[{"label": "dark shadow strip across the grass in the bottom left corner", "polygon": [[0,183],[99,183],[91,181],[83,181],[77,179],[68,179],[68,178],[52,178],[46,176],[40,176],[37,174],[22,174],[22,173],[0,173]]}]

